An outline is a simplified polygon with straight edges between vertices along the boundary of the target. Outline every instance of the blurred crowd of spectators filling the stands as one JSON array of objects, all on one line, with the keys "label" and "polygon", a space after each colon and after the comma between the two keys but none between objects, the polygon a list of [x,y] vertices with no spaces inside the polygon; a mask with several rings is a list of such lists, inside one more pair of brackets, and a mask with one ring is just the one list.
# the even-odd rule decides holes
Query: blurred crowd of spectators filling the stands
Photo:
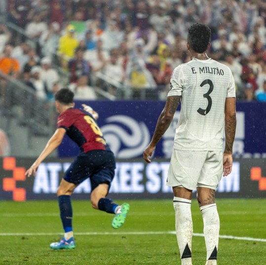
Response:
[{"label": "blurred crowd of spectators filling the stands", "polygon": [[150,89],[163,99],[173,69],[190,60],[187,30],[200,22],[212,30],[209,57],[233,73],[237,98],[266,101],[264,0],[1,0],[0,8],[27,36],[17,43],[0,24],[0,71],[40,99],[60,89],[53,63],[69,74],[76,99],[99,98],[95,87],[136,98]]}]

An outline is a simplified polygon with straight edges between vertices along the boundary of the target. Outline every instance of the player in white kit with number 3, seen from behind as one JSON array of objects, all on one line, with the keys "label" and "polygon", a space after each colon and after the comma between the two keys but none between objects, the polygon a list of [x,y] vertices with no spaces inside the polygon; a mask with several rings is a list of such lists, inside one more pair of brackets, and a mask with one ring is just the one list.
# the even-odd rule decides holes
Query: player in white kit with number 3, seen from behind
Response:
[{"label": "player in white kit with number 3, seen from behind", "polygon": [[[174,139],[167,185],[173,187],[176,235],[182,265],[191,265],[192,190],[204,223],[206,265],[217,264],[220,220],[215,189],[232,170],[232,146],[236,128],[235,86],[229,68],[206,54],[211,30],[193,24],[188,33],[190,61],[173,71],[165,107],[143,157],[150,156],[169,127],[181,100],[181,113]],[[223,133],[225,130],[225,150]]]}]

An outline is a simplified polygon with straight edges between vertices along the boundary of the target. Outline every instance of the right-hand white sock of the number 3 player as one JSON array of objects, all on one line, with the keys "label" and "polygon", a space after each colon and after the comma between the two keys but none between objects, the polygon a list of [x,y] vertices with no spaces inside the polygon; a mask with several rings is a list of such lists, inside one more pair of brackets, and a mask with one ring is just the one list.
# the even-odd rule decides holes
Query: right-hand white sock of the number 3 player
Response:
[{"label": "right-hand white sock of the number 3 player", "polygon": [[200,211],[204,223],[203,232],[207,250],[206,265],[216,265],[220,230],[220,219],[216,203],[201,206]]}]

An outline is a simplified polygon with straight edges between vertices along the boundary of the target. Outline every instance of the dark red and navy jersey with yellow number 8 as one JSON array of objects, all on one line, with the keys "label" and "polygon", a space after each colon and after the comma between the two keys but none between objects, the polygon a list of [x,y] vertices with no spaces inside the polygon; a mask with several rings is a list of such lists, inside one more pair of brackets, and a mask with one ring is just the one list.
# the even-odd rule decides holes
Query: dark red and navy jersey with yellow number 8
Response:
[{"label": "dark red and navy jersey with yellow number 8", "polygon": [[86,111],[67,109],[58,116],[57,128],[66,129],[67,135],[76,142],[81,152],[111,151],[96,121]]}]

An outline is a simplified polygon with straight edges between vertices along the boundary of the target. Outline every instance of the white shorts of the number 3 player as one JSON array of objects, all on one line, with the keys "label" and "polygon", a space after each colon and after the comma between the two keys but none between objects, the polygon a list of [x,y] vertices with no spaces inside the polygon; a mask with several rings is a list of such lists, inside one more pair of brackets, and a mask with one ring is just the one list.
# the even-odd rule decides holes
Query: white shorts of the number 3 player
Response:
[{"label": "white shorts of the number 3 player", "polygon": [[216,189],[223,175],[223,151],[184,151],[173,149],[167,186],[187,189]]}]

